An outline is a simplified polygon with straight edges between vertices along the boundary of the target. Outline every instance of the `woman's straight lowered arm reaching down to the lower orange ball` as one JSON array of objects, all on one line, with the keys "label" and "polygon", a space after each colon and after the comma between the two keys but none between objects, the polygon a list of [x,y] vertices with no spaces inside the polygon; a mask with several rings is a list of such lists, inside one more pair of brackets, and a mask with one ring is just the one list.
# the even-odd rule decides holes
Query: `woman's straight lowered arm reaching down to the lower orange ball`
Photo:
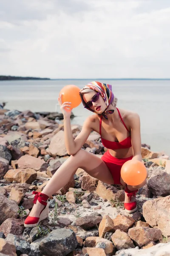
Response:
[{"label": "woman's straight lowered arm reaching down to the lower orange ball", "polygon": [[130,129],[131,129],[133,159],[142,161],[140,117],[137,113],[130,114],[129,121],[130,121]]}]

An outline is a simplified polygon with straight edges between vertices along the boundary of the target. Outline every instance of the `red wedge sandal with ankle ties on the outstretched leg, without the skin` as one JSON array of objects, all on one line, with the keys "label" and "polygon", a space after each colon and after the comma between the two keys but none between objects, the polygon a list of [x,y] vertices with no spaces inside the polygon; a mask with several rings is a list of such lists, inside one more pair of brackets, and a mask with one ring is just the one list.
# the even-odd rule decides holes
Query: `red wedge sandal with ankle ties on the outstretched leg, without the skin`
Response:
[{"label": "red wedge sandal with ankle ties on the outstretched leg, without the skin", "polygon": [[[49,213],[49,202],[48,195],[45,195],[41,192],[33,191],[32,194],[35,194],[33,203],[36,204],[37,200],[40,202],[40,204],[45,205],[45,208],[42,209],[40,212],[40,217],[30,217],[28,216],[24,222],[24,227],[36,227],[40,223],[40,221],[44,220],[45,218],[48,218]],[[47,201],[47,202],[46,202]]]}]

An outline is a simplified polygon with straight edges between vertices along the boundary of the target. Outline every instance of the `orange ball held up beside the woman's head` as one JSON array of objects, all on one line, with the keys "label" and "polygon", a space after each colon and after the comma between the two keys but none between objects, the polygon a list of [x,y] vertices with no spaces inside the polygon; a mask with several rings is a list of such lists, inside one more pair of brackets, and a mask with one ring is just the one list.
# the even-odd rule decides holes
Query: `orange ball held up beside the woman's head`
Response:
[{"label": "orange ball held up beside the woman's head", "polygon": [[82,102],[79,96],[79,91],[79,87],[74,84],[69,84],[63,87],[59,93],[59,95],[62,95],[62,103],[71,102],[71,108],[76,108]]}]

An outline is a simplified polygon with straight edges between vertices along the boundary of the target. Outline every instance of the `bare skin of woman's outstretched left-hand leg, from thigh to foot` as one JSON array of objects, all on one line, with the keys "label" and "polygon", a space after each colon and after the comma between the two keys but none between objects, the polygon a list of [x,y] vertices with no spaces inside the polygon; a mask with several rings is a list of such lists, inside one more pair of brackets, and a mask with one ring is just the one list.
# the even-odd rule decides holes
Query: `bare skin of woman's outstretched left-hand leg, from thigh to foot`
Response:
[{"label": "bare skin of woman's outstretched left-hand leg, from thigh to foot", "polygon": [[[114,184],[113,177],[106,164],[94,154],[80,149],[59,167],[42,190],[42,193],[49,197],[53,195],[71,180],[78,168],[84,169],[89,175],[105,183]],[[43,208],[44,206],[37,200],[29,216],[38,217]]]}]

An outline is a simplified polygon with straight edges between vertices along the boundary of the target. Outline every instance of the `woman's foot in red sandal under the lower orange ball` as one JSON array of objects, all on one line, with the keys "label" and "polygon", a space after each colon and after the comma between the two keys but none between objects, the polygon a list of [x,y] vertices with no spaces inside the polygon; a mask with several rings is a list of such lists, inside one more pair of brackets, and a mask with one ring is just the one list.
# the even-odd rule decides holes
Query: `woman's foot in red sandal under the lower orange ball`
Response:
[{"label": "woman's foot in red sandal under the lower orange ball", "polygon": [[138,192],[138,190],[134,190],[134,191],[130,191],[129,189],[127,189],[127,186],[125,188],[125,210],[128,213],[133,213],[137,210],[137,206],[136,206],[136,192]]}]

